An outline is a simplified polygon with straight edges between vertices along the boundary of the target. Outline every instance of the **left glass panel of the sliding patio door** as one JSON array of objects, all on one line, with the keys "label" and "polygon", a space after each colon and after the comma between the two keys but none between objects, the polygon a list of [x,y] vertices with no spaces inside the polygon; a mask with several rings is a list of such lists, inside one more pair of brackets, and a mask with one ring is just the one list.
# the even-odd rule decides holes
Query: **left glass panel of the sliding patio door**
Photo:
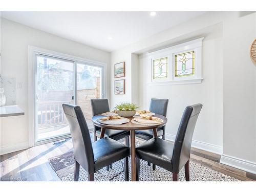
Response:
[{"label": "left glass panel of the sliding patio door", "polygon": [[36,141],[69,135],[63,103],[74,103],[74,62],[37,55]]}]

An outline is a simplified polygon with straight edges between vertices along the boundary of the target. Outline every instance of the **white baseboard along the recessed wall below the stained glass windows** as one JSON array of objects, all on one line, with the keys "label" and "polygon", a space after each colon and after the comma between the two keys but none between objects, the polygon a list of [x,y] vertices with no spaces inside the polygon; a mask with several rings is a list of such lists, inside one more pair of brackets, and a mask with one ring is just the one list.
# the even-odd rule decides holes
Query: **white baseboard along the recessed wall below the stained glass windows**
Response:
[{"label": "white baseboard along the recessed wall below the stained glass windows", "polygon": [[[169,140],[169,141],[175,141],[176,136],[172,135],[172,134],[165,134],[165,139]],[[192,140],[192,147],[195,148],[199,148],[200,150],[204,150],[207,152],[212,152],[212,153],[216,153],[216,154],[222,154],[222,146],[218,146],[218,145],[214,145],[214,144],[210,144],[210,143],[205,143],[205,142],[201,142],[201,141],[196,141],[196,140]]]}]

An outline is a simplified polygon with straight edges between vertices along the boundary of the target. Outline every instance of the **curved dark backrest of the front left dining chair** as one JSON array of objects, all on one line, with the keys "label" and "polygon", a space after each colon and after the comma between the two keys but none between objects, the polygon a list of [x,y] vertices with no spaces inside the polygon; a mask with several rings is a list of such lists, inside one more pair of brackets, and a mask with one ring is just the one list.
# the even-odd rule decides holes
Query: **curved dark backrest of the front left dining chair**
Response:
[{"label": "curved dark backrest of the front left dining chair", "polygon": [[74,159],[88,172],[94,173],[94,155],[90,132],[80,106],[62,104],[72,136]]}]

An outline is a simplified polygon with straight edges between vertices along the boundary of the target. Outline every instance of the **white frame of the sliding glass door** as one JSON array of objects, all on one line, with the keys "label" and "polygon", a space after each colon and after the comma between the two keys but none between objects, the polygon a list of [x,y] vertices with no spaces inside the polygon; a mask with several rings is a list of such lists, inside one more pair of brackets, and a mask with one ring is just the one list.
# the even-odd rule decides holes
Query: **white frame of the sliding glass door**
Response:
[{"label": "white frame of the sliding glass door", "polygon": [[102,98],[106,97],[106,70],[107,66],[106,63],[99,62],[99,61],[94,61],[86,58],[81,58],[81,57],[76,57],[68,54],[63,54],[47,49],[41,49],[33,46],[28,46],[28,124],[29,124],[29,147],[34,146],[35,144],[43,144],[46,142],[52,142],[55,140],[67,138],[70,136],[62,136],[58,138],[53,138],[49,139],[46,141],[40,141],[35,143],[35,127],[36,127],[36,122],[35,122],[35,102],[36,102],[36,95],[35,95],[35,89],[36,89],[36,83],[35,83],[35,78],[36,78],[36,54],[44,54],[52,57],[58,57],[62,59],[67,59],[74,61],[74,102],[76,103],[76,64],[77,62],[79,63],[84,63],[86,65],[92,65],[92,66],[97,66],[102,68]]}]

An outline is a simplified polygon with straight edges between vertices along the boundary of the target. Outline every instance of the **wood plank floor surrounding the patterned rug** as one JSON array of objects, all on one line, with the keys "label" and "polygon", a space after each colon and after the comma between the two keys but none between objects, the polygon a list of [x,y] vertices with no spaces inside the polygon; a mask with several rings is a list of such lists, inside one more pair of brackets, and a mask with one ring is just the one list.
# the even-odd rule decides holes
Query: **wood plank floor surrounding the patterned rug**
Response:
[{"label": "wood plank floor surrounding the patterned rug", "polygon": [[[93,140],[93,136],[91,136]],[[0,156],[1,181],[60,181],[48,159],[72,149],[71,138],[56,145],[47,143]],[[137,140],[143,142],[142,140]],[[191,161],[242,181],[256,181],[256,175],[220,163],[220,155],[192,148]]]}]

